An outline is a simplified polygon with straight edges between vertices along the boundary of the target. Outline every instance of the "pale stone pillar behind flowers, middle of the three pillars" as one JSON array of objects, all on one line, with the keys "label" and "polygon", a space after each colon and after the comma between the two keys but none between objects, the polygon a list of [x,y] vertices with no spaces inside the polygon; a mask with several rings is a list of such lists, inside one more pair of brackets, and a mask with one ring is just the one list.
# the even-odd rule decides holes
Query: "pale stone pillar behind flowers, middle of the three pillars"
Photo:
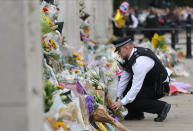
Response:
[{"label": "pale stone pillar behind flowers, middle of the three pillars", "polygon": [[63,35],[74,49],[80,49],[79,0],[58,0],[58,21],[64,22]]}]

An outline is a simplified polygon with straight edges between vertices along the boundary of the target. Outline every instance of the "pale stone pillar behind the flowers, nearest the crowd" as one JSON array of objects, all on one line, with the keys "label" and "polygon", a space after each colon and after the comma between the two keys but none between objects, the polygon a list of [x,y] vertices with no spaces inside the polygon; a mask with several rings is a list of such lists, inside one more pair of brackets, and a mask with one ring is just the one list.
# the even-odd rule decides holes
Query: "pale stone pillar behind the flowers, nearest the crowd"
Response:
[{"label": "pale stone pillar behind the flowers, nearest the crowd", "polygon": [[112,0],[85,0],[85,11],[90,14],[90,37],[99,43],[110,38]]}]

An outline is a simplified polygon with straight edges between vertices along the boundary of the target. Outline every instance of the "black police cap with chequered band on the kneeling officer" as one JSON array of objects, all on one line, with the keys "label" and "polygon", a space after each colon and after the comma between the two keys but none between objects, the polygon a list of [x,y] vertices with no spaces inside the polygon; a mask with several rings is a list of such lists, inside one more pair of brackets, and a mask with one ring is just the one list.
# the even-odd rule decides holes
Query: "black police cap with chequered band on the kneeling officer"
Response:
[{"label": "black police cap with chequered band on the kneeling officer", "polygon": [[115,52],[119,50],[120,47],[124,46],[128,42],[131,41],[130,36],[119,38],[118,40],[115,40],[112,42],[113,45],[115,45]]}]

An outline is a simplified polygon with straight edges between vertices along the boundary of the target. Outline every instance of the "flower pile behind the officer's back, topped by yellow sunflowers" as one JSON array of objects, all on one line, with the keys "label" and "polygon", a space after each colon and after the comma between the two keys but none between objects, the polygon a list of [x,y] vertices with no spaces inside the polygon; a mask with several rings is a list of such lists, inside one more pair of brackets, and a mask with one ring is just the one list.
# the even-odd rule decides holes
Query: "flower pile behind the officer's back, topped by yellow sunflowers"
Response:
[{"label": "flower pile behind the officer's back, topped by yellow sunflowers", "polygon": [[176,51],[168,47],[167,43],[168,41],[164,36],[159,36],[155,33],[151,42],[143,41],[137,44],[137,46],[153,50],[172,77],[188,77],[189,73],[185,71],[183,63],[180,60],[180,58],[184,57],[184,53],[181,50]]}]

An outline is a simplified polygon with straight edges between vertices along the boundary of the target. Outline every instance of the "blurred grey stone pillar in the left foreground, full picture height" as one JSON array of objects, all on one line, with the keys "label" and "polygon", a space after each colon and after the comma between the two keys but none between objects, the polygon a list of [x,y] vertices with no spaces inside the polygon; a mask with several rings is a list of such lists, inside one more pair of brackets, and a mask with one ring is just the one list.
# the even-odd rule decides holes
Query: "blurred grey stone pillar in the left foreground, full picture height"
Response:
[{"label": "blurred grey stone pillar in the left foreground, full picture height", "polygon": [[42,131],[39,0],[0,1],[0,130]]}]

